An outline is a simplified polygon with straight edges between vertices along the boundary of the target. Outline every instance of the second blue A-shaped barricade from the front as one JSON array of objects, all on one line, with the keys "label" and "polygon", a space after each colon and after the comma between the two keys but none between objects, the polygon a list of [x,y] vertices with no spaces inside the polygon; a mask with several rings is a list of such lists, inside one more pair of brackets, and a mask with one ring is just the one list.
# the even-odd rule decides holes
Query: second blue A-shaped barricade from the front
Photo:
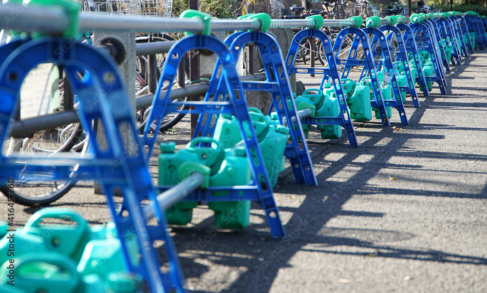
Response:
[{"label": "second blue A-shaped barricade from the front", "polygon": [[[183,60],[187,51],[195,49],[209,50],[214,52],[220,59],[221,73],[219,72],[219,67],[215,67],[204,101],[186,101],[184,105],[193,107],[193,109],[191,109],[192,114],[228,113],[235,115],[240,123],[241,136],[246,137],[244,135],[245,128],[251,132],[251,137],[244,139],[244,146],[254,180],[250,186],[228,186],[224,187],[224,189],[231,193],[237,192],[241,194],[242,196],[239,197],[238,200],[248,199],[260,202],[265,211],[272,237],[286,237],[284,226],[282,225],[281,218],[279,216],[279,209],[274,200],[272,185],[269,182],[269,177],[267,176],[265,165],[263,163],[262,153],[259,148],[259,141],[257,140],[254,129],[250,127],[252,124],[248,114],[247,104],[244,99],[242,85],[237,74],[235,60],[225,44],[212,36],[190,35],[184,39],[178,40],[171,47],[168,52],[169,58],[164,65],[156,94],[154,95],[154,100],[152,101],[149,121],[155,122],[157,124],[156,128],[158,128],[166,113],[176,112],[178,106],[183,105],[183,103],[180,102],[173,103],[169,98],[170,92],[174,83],[174,77],[176,75],[178,65]],[[221,82],[221,80],[223,80],[223,82]],[[165,82],[169,83],[168,90],[166,96],[161,97],[160,88]],[[236,92],[238,94],[236,94]],[[228,95],[228,101],[225,101],[226,95]],[[212,101],[213,98],[216,98],[217,101]],[[210,121],[207,120],[204,122],[202,120],[202,116],[200,116],[198,119],[199,130],[195,131],[197,135],[203,133],[206,123],[209,124]],[[146,125],[146,128],[144,129],[144,142],[149,146],[148,156],[150,156],[155,143],[155,136],[150,137],[149,133],[149,125]],[[254,161],[252,154],[257,156],[257,161]],[[264,185],[261,184],[261,180],[259,180],[259,178],[264,180]],[[164,189],[161,190],[164,191]],[[211,189],[206,189],[193,193],[187,196],[187,198],[184,200],[193,201],[196,194],[203,196],[201,198],[204,198],[198,201],[210,202],[220,201],[221,199],[216,196],[212,196]]]}]

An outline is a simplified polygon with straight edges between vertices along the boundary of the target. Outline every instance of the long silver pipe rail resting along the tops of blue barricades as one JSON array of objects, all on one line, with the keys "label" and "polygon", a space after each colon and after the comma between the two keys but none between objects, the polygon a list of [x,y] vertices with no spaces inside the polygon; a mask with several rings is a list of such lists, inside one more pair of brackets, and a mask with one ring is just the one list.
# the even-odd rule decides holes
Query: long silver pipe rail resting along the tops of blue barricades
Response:
[{"label": "long silver pipe rail resting along the tops of blue barricades", "polygon": [[[15,16],[15,17],[14,17]],[[21,31],[44,31],[61,33],[70,24],[69,17],[57,7],[0,5],[0,28]],[[107,15],[102,13],[80,13],[79,31],[134,31],[134,32],[201,32],[205,28],[202,20],[160,18],[150,16]],[[355,20],[324,20],[324,26],[353,26]],[[312,27],[315,20],[271,20],[270,28]],[[211,20],[211,30],[258,30],[259,20]]]}]

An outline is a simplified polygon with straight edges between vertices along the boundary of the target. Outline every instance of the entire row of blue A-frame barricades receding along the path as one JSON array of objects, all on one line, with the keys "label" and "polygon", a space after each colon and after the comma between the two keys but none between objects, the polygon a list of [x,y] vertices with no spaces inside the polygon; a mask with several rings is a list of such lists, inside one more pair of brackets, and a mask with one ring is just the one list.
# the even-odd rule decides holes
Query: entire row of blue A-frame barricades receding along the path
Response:
[{"label": "entire row of blue A-frame barricades receding along the path", "polygon": [[[268,21],[265,16],[259,17],[262,18],[262,23]],[[361,29],[358,23],[361,21],[357,20],[357,25],[344,28],[338,34],[334,44],[319,29],[319,25],[302,29],[292,40],[285,58],[277,40],[265,31],[235,32],[223,42],[208,34],[189,35],[177,41],[168,53],[170,58],[162,71],[149,120],[159,125],[167,113],[179,111],[183,106],[173,102],[170,93],[178,65],[187,51],[214,52],[218,60],[204,101],[186,101],[185,104],[185,107],[191,107],[192,114],[200,114],[194,138],[214,135],[216,124],[210,121],[221,116],[234,117],[243,137],[241,145],[253,178],[250,184],[241,186],[207,186],[191,193],[184,200],[259,202],[265,211],[272,236],[286,237],[273,196],[275,182],[270,181],[266,170],[258,137],[259,129],[251,127],[253,120],[244,99],[244,91],[271,93],[276,125],[282,124],[284,120],[292,124],[283,154],[291,163],[296,182],[316,186],[318,181],[306,143],[307,130],[311,125],[318,125],[323,138],[340,137],[341,128],[344,128],[352,147],[358,146],[352,120],[370,120],[372,110],[383,125],[390,125],[391,109],[394,108],[399,113],[401,124],[407,125],[408,119],[404,111],[406,95],[411,96],[414,107],[420,106],[416,83],[424,96],[430,95],[433,83],[445,95],[448,86],[445,77],[450,65],[461,64],[468,54],[474,52],[475,46],[480,50],[487,46],[485,20],[475,15],[461,16],[455,13],[436,18],[433,15],[413,15],[409,24],[404,23],[404,19],[390,17],[387,24],[382,26],[381,21],[383,20],[378,18],[368,19],[366,28]],[[343,55],[340,53],[344,50],[342,44],[345,36],[352,36],[353,43],[347,48],[346,57],[339,58]],[[296,67],[294,60],[301,40],[307,37],[318,39],[322,43],[322,54],[327,60],[324,68]],[[241,81],[237,74],[235,60],[248,43],[259,48],[265,73],[263,81]],[[1,46],[1,140],[8,136],[7,130],[18,104],[23,79],[37,64],[45,62],[54,62],[64,67],[80,103],[77,112],[83,129],[90,137],[96,137],[91,125],[94,121],[102,124],[108,147],[101,148],[93,143],[88,154],[83,157],[59,155],[20,158],[2,155],[0,178],[7,179],[22,173],[25,179],[24,167],[28,165],[29,174],[33,178],[42,174],[49,178],[65,179],[72,174],[72,166],[76,165],[77,179],[100,181],[107,195],[107,203],[116,227],[116,232],[113,233],[120,239],[119,258],[124,266],[123,271],[139,274],[147,282],[151,292],[185,292],[184,277],[174,244],[166,230],[168,223],[164,211],[154,204],[152,212],[157,223],[150,225],[141,212],[143,200],[156,201],[156,188],[152,185],[147,168],[156,136],[150,135],[147,127],[144,138],[139,143],[131,108],[111,57],[93,47],[73,43],[70,39],[49,36],[14,39]],[[352,68],[360,67],[360,79],[355,81],[349,78]],[[83,78],[79,78],[80,72],[84,73]],[[289,75],[292,74],[321,74],[323,78],[319,87],[313,89],[314,94],[308,90],[305,95],[293,97],[289,82]],[[159,89],[166,84],[169,84],[168,90],[162,97]],[[311,114],[300,119],[299,111],[304,109],[310,109]],[[124,133],[121,133],[121,129],[124,129]],[[127,131],[131,139],[127,139]],[[138,148],[133,149],[128,141],[137,142]],[[210,140],[200,139],[199,143],[208,141]],[[149,154],[143,153],[143,146],[149,147]],[[193,167],[187,167],[188,174],[192,172],[191,168]],[[200,169],[194,167],[194,170]],[[158,187],[159,190],[169,188]],[[222,191],[225,191],[223,195],[212,196]],[[125,213],[121,213],[113,201],[115,194],[124,196]],[[44,241],[41,239],[43,233],[36,233],[36,237],[40,237],[38,241]],[[130,241],[127,235],[131,235]],[[159,270],[161,261],[153,245],[160,240],[164,241],[166,261],[169,263],[169,271],[165,272]],[[133,245],[137,248],[136,260],[132,255]],[[49,247],[56,251],[56,245]],[[48,261],[45,257],[43,260]],[[130,283],[127,276],[124,278],[120,281],[122,285],[117,286]],[[7,281],[8,279],[2,280],[4,284]],[[37,280],[37,284],[42,285],[44,281]],[[95,292],[93,288],[96,286],[90,285],[88,278],[83,277],[80,282],[84,282],[84,288],[92,288],[92,291],[87,289],[86,292]],[[16,286],[16,290],[25,292],[31,292],[30,289],[21,286],[19,289]],[[45,290],[49,292],[49,288]],[[134,289],[134,292],[137,290]]]}]

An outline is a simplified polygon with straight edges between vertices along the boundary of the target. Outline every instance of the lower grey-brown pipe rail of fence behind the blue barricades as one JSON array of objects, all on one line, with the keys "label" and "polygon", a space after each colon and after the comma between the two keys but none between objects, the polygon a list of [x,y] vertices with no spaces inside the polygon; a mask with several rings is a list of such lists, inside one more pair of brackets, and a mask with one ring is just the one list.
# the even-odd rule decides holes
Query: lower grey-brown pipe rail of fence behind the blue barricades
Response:
[{"label": "lower grey-brown pipe rail of fence behind the blue barricades", "polygon": [[[241,80],[265,80],[265,74],[245,75],[240,77]],[[171,90],[171,99],[185,98],[190,95],[203,94],[208,90],[208,84],[205,82],[187,85],[185,88],[176,88]],[[167,90],[161,91],[161,97],[165,97]],[[135,99],[136,108],[149,107],[154,98],[153,94],[143,95]],[[25,137],[36,131],[51,129],[61,125],[79,122],[78,115],[75,111],[65,111],[23,119],[21,121],[12,121],[12,137]]]}]

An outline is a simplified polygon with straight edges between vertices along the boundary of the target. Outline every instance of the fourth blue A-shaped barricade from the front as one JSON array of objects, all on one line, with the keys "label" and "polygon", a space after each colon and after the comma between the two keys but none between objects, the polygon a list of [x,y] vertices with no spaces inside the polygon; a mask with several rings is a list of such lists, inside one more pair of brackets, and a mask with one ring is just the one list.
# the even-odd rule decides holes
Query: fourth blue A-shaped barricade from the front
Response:
[{"label": "fourth blue A-shaped barricade from the front", "polygon": [[[326,60],[328,61],[328,66],[326,68],[305,68],[296,67],[295,60],[296,55],[300,47],[301,40],[310,37],[317,38],[321,41],[323,46],[323,53],[325,54]],[[289,52],[286,57],[286,69],[289,75],[291,74],[321,74],[323,78],[319,85],[319,89],[323,89],[323,84],[330,80],[333,83],[333,88],[335,94],[337,95],[337,100],[340,106],[340,114],[336,117],[307,117],[302,120],[304,124],[312,125],[341,125],[345,128],[345,133],[348,137],[348,142],[351,147],[358,147],[357,138],[355,135],[354,125],[352,119],[350,119],[350,110],[347,106],[347,101],[343,94],[343,89],[341,88],[340,77],[338,74],[337,64],[335,56],[332,52],[331,41],[328,36],[321,30],[308,28],[303,29],[298,32],[289,46]],[[289,121],[289,120],[288,120]]]}]

